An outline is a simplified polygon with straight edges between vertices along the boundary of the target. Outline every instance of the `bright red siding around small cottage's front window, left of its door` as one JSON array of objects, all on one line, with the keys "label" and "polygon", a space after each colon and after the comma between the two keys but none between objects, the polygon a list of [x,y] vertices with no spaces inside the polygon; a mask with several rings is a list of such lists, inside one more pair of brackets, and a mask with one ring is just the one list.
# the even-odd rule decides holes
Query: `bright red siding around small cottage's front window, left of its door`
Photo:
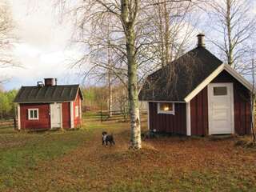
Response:
[{"label": "bright red siding around small cottage's front window, left of its door", "polygon": [[[29,120],[28,109],[38,109],[39,119]],[[50,104],[20,104],[21,129],[50,129]]]}]

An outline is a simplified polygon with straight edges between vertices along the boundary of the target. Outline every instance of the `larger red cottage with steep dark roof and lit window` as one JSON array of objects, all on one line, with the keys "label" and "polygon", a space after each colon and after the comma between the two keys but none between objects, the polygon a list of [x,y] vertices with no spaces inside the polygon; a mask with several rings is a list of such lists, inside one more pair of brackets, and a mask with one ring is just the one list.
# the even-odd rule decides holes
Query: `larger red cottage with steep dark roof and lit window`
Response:
[{"label": "larger red cottage with steep dark roof and lit window", "polygon": [[146,78],[150,130],[171,134],[250,134],[252,86],[216,58],[198,34],[198,46]]}]

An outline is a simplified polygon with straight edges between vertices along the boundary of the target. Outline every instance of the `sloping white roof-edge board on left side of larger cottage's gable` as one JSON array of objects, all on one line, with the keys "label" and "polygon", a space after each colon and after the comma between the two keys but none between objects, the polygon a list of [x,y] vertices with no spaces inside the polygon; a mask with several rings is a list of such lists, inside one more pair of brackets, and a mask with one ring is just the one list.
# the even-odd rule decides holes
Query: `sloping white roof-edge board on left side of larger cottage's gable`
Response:
[{"label": "sloping white roof-edge board on left side of larger cottage's gable", "polygon": [[224,70],[225,64],[218,66],[216,70],[212,74],[210,74],[203,82],[201,82],[190,94],[186,96],[184,99],[185,102],[190,102],[192,98],[194,98],[195,95],[197,95],[203,88],[205,88],[214,78],[218,76]]}]

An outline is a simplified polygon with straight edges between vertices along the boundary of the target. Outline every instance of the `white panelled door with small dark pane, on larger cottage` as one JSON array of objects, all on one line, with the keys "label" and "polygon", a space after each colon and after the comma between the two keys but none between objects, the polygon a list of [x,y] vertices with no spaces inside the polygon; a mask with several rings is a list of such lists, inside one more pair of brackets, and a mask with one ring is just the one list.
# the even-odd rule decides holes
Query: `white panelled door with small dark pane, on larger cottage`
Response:
[{"label": "white panelled door with small dark pane, on larger cottage", "polygon": [[234,134],[234,94],[232,83],[208,85],[209,134]]}]

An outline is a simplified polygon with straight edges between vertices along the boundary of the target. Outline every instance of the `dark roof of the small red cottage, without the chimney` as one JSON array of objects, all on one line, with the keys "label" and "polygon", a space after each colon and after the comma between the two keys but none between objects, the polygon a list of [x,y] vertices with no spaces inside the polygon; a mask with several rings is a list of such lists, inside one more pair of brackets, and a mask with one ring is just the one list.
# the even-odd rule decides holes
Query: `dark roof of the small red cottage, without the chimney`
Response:
[{"label": "dark roof of the small red cottage, without the chimney", "polygon": [[22,86],[14,102],[66,102],[74,101],[82,93],[79,85],[69,86]]}]

